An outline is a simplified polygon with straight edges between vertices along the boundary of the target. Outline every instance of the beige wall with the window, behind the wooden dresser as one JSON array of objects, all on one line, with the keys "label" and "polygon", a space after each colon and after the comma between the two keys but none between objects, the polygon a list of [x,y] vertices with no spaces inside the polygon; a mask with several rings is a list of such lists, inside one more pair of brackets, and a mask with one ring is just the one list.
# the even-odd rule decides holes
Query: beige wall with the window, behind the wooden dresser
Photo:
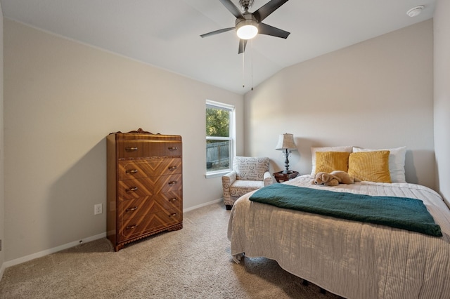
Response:
[{"label": "beige wall with the window, behind the wooden dresser", "polygon": [[[183,137],[184,208],[221,198],[205,178],[205,100],[243,95],[5,19],[5,259],[105,233],[108,133]],[[5,243],[6,243],[5,242]]]}]

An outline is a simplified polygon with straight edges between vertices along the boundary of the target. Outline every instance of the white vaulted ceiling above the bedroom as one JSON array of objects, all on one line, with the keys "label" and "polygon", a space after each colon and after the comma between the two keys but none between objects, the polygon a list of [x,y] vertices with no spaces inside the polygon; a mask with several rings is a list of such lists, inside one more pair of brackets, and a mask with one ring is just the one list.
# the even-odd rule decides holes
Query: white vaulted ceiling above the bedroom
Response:
[{"label": "white vaulted ceiling above the bedroom", "polygon": [[[435,0],[290,0],[238,55],[235,17],[219,0],[0,0],[4,17],[243,94],[284,67],[432,18]],[[266,4],[255,0],[249,11]],[[238,0],[233,0],[238,5]],[[406,15],[425,5],[415,18]],[[245,87],[243,87],[243,85]]]}]

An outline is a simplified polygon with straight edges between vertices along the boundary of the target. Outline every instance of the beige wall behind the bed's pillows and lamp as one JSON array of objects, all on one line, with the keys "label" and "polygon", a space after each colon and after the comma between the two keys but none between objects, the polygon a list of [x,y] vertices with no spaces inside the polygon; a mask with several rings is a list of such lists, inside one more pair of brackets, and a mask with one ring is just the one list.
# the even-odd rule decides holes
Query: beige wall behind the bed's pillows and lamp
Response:
[{"label": "beige wall behind the bed's pillows and lamp", "polygon": [[283,69],[245,95],[245,154],[282,170],[278,134],[293,133],[304,174],[311,146],[406,146],[406,180],[435,187],[432,55],[427,20]]}]

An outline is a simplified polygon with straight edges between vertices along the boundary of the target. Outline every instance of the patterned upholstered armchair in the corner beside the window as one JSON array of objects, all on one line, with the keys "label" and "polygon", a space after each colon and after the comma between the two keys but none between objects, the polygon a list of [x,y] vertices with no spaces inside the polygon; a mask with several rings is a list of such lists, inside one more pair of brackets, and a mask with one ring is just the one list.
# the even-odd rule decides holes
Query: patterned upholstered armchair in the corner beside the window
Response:
[{"label": "patterned upholstered armchair in the corner beside the window", "polygon": [[235,157],[233,171],[222,176],[226,209],[231,210],[234,201],[243,194],[271,185],[272,182],[269,158]]}]

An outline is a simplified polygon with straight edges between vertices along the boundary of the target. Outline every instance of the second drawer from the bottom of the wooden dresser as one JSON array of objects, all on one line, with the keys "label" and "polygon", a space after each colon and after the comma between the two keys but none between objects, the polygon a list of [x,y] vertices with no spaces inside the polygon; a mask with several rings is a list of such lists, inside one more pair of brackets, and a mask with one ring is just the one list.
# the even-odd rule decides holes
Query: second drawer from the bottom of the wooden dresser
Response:
[{"label": "second drawer from the bottom of the wooden dresser", "polygon": [[150,197],[139,197],[127,201],[119,201],[117,212],[123,220],[175,208],[182,211],[181,190],[155,194]]}]

